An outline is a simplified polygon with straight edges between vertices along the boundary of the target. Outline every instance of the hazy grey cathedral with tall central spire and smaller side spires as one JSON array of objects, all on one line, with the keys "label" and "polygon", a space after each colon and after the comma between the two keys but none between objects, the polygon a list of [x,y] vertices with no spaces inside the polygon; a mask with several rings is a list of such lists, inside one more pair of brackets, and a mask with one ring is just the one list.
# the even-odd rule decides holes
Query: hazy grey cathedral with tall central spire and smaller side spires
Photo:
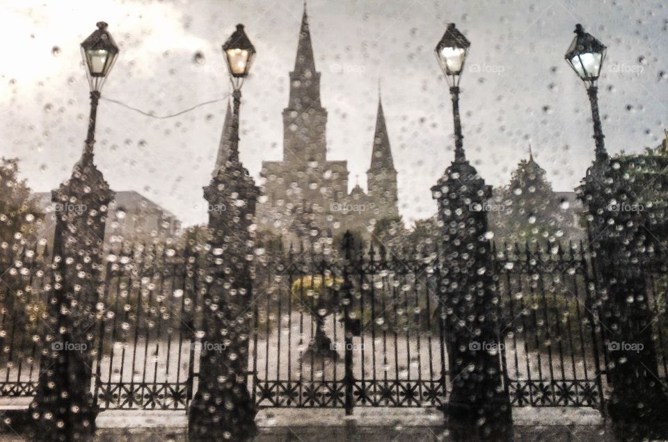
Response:
[{"label": "hazy grey cathedral with tall central spire and smaller side spires", "polygon": [[[290,241],[333,238],[346,229],[369,238],[374,222],[399,216],[397,170],[380,97],[367,170],[368,193],[359,184],[349,193],[347,161],[327,158],[328,115],[320,99],[320,72],[315,66],[306,10],[289,79],[289,101],[283,110],[283,159],[262,163],[258,228]],[[221,142],[221,149],[225,144]]]}]

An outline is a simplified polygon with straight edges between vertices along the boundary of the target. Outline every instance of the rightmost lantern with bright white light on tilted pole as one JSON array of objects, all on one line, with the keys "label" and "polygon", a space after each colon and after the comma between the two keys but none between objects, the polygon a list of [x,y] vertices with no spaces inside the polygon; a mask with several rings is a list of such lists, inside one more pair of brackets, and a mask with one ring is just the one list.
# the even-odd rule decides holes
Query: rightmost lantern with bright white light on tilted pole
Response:
[{"label": "rightmost lantern with bright white light on tilted pole", "polygon": [[605,142],[598,113],[598,76],[605,60],[605,46],[593,35],[584,31],[581,24],[575,25],[575,38],[566,51],[566,62],[587,86],[591,118],[594,120],[594,140],[596,140],[596,161],[605,161]]}]

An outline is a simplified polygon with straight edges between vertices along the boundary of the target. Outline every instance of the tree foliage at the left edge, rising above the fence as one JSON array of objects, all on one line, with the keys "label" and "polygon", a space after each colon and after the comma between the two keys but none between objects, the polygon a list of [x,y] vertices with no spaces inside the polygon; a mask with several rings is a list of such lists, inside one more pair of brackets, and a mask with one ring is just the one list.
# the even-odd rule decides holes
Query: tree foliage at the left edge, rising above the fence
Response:
[{"label": "tree foliage at the left edge, rising above the fence", "polygon": [[0,158],[0,243],[12,243],[17,234],[29,236],[42,219],[26,180],[19,179],[18,172],[18,158]]}]

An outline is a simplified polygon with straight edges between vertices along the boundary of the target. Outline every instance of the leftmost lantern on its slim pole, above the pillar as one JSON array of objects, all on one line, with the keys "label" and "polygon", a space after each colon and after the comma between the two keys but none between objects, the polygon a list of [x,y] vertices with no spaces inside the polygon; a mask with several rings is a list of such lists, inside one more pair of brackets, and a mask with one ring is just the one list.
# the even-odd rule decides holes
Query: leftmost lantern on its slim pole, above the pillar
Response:
[{"label": "leftmost lantern on its slim pole, above the pillar", "polygon": [[86,136],[85,154],[93,155],[95,143],[95,120],[97,103],[100,101],[100,90],[111,71],[118,56],[118,45],[106,30],[105,22],[97,22],[97,29],[81,43],[81,56],[86,64],[86,75],[90,85],[90,119],[88,120],[88,136]]}]

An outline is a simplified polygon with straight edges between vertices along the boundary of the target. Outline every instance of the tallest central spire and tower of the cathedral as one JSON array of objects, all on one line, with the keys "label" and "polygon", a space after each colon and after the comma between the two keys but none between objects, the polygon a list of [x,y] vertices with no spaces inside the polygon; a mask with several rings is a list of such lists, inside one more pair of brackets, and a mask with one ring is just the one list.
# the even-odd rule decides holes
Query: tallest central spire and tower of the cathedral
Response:
[{"label": "tallest central spire and tower of the cathedral", "polygon": [[301,18],[299,44],[290,72],[290,97],[283,109],[283,160],[302,164],[326,161],[327,111],[320,104],[320,72],[315,70],[306,5]]}]

